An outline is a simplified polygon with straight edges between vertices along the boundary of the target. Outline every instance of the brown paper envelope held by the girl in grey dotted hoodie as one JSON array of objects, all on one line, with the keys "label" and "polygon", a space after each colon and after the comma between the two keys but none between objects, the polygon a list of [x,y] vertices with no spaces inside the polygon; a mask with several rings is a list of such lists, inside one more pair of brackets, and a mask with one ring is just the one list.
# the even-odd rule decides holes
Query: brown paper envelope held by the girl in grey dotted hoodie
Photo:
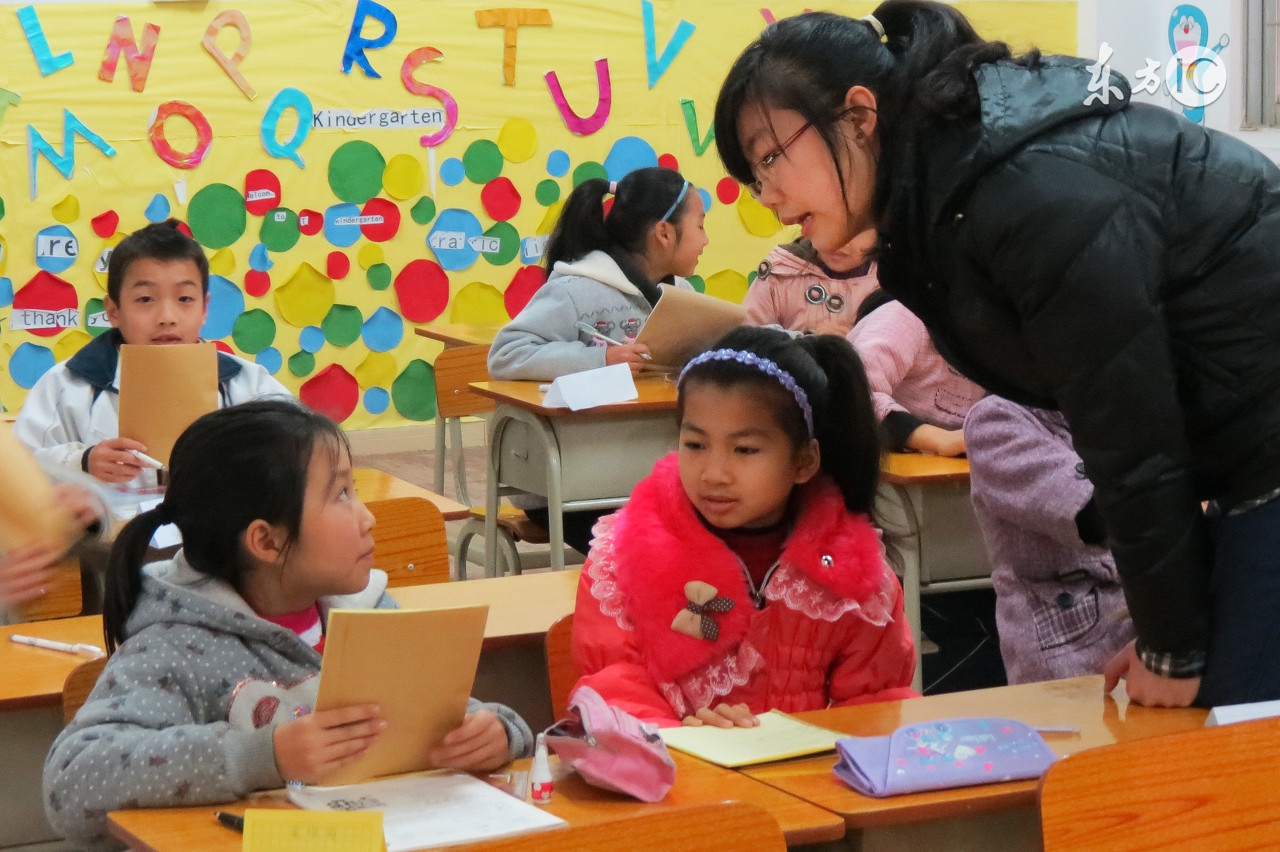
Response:
[{"label": "brown paper envelope held by the girl in grey dotted hoodie", "polygon": [[376,704],[387,730],[325,785],[429,769],[428,750],[462,724],[488,606],[329,613],[316,710]]}]

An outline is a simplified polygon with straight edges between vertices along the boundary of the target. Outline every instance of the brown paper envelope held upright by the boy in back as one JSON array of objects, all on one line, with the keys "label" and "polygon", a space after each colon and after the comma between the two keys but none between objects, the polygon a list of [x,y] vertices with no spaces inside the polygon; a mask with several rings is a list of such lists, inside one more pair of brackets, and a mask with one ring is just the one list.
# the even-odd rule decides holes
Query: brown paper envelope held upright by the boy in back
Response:
[{"label": "brown paper envelope held upright by the boy in back", "polygon": [[120,345],[120,438],[169,463],[183,430],[218,409],[218,348],[212,343]]}]

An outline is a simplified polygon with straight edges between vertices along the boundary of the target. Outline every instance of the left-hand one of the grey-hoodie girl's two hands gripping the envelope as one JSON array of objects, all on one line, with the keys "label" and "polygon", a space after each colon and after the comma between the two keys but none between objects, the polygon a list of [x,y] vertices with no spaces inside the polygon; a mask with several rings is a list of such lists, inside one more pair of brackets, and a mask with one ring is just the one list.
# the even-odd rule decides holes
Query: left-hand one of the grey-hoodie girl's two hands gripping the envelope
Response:
[{"label": "left-hand one of the grey-hoodie girl's two hands gripping the envelope", "polygon": [[271,734],[275,766],[287,782],[321,784],[387,729],[378,705],[320,710],[279,725]]}]

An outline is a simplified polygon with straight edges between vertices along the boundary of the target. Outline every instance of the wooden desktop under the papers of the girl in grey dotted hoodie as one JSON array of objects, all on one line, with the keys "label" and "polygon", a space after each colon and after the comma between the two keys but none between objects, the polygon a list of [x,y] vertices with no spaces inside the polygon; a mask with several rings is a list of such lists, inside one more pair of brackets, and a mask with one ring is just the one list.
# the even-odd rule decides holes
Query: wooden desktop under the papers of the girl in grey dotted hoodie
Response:
[{"label": "wooden desktop under the papers of the girl in grey dotted hoodie", "polygon": [[[696,757],[678,752],[672,752],[672,757],[676,760],[675,787],[660,802],[645,803],[591,787],[577,774],[563,775],[566,770],[553,756],[556,792],[544,807],[570,825],[591,825],[626,820],[657,809],[740,801],[768,811],[777,820],[788,846],[838,840],[845,835],[844,821],[820,807]],[[529,762],[516,761],[513,769],[527,771]],[[145,852],[239,852],[241,837],[215,823],[212,814],[215,810],[242,814],[247,807],[293,805],[284,800],[283,793],[270,793],[233,805],[115,811],[108,817],[108,826],[114,838]],[[626,823],[621,823],[618,829],[626,830]],[[723,847],[732,849],[733,838],[726,837]]]}]

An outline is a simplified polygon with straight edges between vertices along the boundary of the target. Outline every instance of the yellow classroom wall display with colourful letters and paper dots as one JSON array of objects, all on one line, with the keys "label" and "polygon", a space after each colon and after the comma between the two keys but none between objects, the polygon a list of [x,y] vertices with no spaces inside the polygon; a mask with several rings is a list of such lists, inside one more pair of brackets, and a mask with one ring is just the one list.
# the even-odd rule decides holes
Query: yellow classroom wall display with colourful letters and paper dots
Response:
[{"label": "yellow classroom wall display with colourful letters and paper dots", "polygon": [[[861,15],[874,3],[838,3]],[[1075,52],[1076,4],[957,4]],[[741,301],[791,239],[726,178],[730,64],[804,3],[492,0],[0,6],[0,402],[106,327],[105,258],[178,217],[207,339],[347,429],[431,420],[433,320],[513,316],[577,182],[678,168],[708,207],[695,285]]]}]

